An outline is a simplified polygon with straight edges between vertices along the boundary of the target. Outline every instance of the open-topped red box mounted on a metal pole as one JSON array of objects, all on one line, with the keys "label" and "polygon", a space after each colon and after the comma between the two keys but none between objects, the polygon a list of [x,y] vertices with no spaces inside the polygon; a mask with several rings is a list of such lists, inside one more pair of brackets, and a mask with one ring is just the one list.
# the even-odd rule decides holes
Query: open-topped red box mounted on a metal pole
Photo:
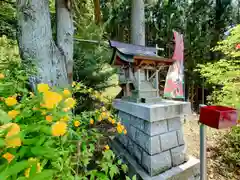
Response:
[{"label": "open-topped red box mounted on a metal pole", "polygon": [[225,106],[203,106],[200,108],[199,122],[216,129],[237,125],[237,110]]}]

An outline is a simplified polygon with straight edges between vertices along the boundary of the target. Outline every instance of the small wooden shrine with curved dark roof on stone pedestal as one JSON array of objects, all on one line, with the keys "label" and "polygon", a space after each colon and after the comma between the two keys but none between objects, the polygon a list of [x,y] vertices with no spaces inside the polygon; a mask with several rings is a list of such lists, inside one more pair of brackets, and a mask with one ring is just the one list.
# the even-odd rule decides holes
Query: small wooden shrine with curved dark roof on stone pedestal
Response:
[{"label": "small wooden shrine with curved dark roof on stone pedestal", "polygon": [[157,56],[156,48],[110,41],[111,64],[118,67],[122,99],[156,102],[159,97],[159,71],[175,60]]}]

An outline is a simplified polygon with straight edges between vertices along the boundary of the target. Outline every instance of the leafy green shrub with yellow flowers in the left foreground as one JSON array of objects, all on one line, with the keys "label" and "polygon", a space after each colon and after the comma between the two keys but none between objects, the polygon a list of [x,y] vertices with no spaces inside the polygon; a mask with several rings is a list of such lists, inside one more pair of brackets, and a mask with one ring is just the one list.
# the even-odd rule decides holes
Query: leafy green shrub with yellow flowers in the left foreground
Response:
[{"label": "leafy green shrub with yellow flowers in the left foreground", "polygon": [[[37,92],[29,92],[26,72],[15,71],[0,74],[0,179],[125,176],[127,166],[107,145],[109,128],[113,134],[127,133],[114,115],[105,107],[75,115],[72,109],[76,100],[70,90],[38,84]],[[81,86],[74,83],[73,93],[87,91],[102,98]]]}]

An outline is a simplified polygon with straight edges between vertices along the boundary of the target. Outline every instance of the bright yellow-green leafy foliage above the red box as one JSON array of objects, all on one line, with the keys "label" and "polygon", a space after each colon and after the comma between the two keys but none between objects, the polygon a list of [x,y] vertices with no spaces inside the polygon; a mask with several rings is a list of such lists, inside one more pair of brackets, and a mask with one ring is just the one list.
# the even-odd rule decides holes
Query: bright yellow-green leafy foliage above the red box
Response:
[{"label": "bright yellow-green leafy foliage above the red box", "polygon": [[215,63],[199,65],[199,72],[213,86],[209,97],[211,103],[240,108],[240,51],[236,49],[240,42],[240,26],[231,31],[231,35],[214,48],[221,51],[225,58]]}]

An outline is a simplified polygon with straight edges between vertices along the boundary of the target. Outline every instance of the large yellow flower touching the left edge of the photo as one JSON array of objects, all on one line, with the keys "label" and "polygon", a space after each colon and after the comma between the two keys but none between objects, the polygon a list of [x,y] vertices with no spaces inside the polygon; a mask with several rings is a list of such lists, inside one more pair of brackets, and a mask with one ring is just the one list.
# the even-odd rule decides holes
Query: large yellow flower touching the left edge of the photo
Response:
[{"label": "large yellow flower touching the left edge of the photo", "polygon": [[20,132],[20,127],[16,123],[8,123],[0,127],[0,129],[8,129],[8,133],[5,138],[7,148],[15,148],[21,146],[22,142],[18,136]]}]

